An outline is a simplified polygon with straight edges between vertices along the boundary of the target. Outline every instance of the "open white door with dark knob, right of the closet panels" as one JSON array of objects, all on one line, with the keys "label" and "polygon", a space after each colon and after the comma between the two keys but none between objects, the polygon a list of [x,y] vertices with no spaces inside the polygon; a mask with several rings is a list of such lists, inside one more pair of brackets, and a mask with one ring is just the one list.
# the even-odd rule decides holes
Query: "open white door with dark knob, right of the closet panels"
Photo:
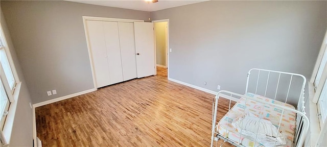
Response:
[{"label": "open white door with dark knob, right of the closet panels", "polygon": [[155,74],[152,22],[134,22],[137,78]]}]

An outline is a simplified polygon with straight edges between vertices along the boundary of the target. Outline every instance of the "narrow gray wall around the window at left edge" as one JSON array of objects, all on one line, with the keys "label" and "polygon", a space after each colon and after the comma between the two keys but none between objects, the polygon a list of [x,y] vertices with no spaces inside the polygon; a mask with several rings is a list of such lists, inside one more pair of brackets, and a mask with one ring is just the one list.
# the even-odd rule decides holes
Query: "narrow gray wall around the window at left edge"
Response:
[{"label": "narrow gray wall around the window at left edge", "polygon": [[31,102],[30,94],[16,56],[15,48],[11,41],[11,36],[7,27],[8,25],[6,24],[2,11],[0,17],[4,35],[6,36],[8,47],[16,67],[19,80],[21,81],[10,146],[33,146],[33,115],[29,104]]}]

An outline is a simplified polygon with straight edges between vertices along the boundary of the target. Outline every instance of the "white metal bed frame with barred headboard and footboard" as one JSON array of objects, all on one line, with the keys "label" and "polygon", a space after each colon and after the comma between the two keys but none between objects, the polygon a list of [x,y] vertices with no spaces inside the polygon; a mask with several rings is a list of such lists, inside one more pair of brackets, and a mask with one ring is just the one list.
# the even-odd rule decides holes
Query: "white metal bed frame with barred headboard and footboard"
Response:
[{"label": "white metal bed frame with barred headboard and footboard", "polygon": [[[268,103],[268,102],[265,102],[265,101],[256,99],[254,97],[249,97],[249,96],[242,95],[242,94],[239,94],[239,93],[234,93],[234,92],[230,92],[230,91],[226,91],[226,90],[221,90],[221,91],[219,91],[217,93],[217,95],[215,96],[214,102],[213,102],[213,121],[212,121],[211,146],[214,145],[214,140],[215,141],[218,141],[219,139],[224,140],[224,142],[229,142],[229,143],[231,143],[232,145],[235,145],[235,146],[243,146],[241,143],[239,143],[240,140],[241,140],[241,136],[242,136],[242,130],[240,132],[240,138],[239,138],[239,141],[238,142],[235,142],[235,141],[227,138],[226,137],[226,135],[228,134],[227,132],[226,132],[226,135],[225,136],[222,135],[222,134],[219,134],[218,131],[216,132],[217,127],[218,127],[218,124],[219,124],[219,122],[216,122],[216,120],[217,120],[217,112],[218,112],[218,99],[222,95],[225,95],[225,96],[228,95],[229,96],[229,107],[228,107],[228,111],[230,111],[230,104],[231,104],[232,97],[244,97],[246,99],[246,101],[247,100],[252,100],[252,101],[256,101],[256,102],[262,103],[262,104],[272,105],[274,107],[283,109],[282,116],[281,116],[281,119],[279,120],[279,124],[278,124],[278,131],[279,131],[279,128],[280,128],[280,125],[281,125],[281,121],[282,121],[282,118],[283,118],[284,110],[295,112],[296,113],[296,119],[295,119],[296,120],[296,127],[295,127],[294,140],[293,140],[293,144],[292,145],[293,146],[303,146],[303,143],[304,143],[304,141],[306,139],[306,134],[307,134],[308,129],[309,129],[309,119],[306,116],[306,112],[305,112],[305,101],[304,101],[304,91],[305,91],[306,78],[304,76],[302,76],[302,75],[293,74],[293,73],[290,73],[290,72],[282,72],[282,71],[274,71],[274,70],[266,70],[266,69],[252,68],[247,73],[247,81],[246,81],[246,90],[245,90],[245,93],[248,92],[249,79],[250,79],[251,71],[253,71],[253,70],[257,70],[258,71],[258,78],[256,80],[256,87],[255,87],[255,94],[257,94],[257,90],[258,90],[260,72],[268,72],[267,83],[265,85],[266,86],[265,95],[263,95],[263,96],[266,96],[266,93],[267,93],[267,87],[268,87],[268,83],[269,83],[270,73],[273,72],[273,73],[279,74],[278,81],[277,81],[277,86],[276,86],[276,89],[274,89],[275,90],[274,100],[276,100],[276,95],[277,95],[277,91],[278,91],[279,81],[281,80],[281,75],[291,76],[291,78],[290,78],[290,84],[289,84],[288,89],[287,89],[287,96],[286,96],[286,99],[285,99],[285,103],[287,102],[287,99],[289,97],[289,92],[290,92],[290,87],[291,87],[293,76],[297,76],[297,77],[300,77],[301,79],[303,79],[302,87],[301,87],[301,90],[300,90],[300,96],[299,96],[298,104],[297,104],[297,110],[291,109],[291,108],[288,108],[288,107],[285,107],[285,106],[280,106],[280,105]],[[271,89],[268,89],[268,90],[271,90]],[[225,98],[228,99],[228,97],[225,97]],[[246,112],[244,111],[244,114],[245,113]],[[228,119],[228,116],[227,116],[227,119]],[[227,121],[227,123],[228,123],[228,121]],[[277,137],[276,137],[276,139],[277,139]],[[275,143],[276,143],[276,139],[275,139]],[[254,146],[256,145],[256,142],[257,141],[256,141],[256,138],[255,138],[254,139]]]}]

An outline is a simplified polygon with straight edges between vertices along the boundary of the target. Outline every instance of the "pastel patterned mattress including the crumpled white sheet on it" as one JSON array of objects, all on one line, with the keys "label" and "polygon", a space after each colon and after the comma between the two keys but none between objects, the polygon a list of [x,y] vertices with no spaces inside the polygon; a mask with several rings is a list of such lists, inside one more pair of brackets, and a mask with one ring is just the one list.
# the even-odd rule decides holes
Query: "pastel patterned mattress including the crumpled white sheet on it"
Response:
[{"label": "pastel patterned mattress including the crumpled white sheet on it", "polygon": [[[245,95],[254,97],[256,99],[260,99],[262,101],[266,101],[268,103],[281,105],[285,107],[289,107],[292,109],[295,109],[292,105],[279,102],[276,100],[269,99],[267,97],[253,94],[253,93],[246,93]],[[246,102],[246,103],[245,103]],[[229,138],[230,140],[233,140],[235,142],[239,142],[240,144],[244,146],[273,146],[274,137],[277,136],[277,142],[276,146],[292,146],[292,142],[294,139],[294,130],[295,130],[295,113],[291,111],[284,111],[281,127],[277,131],[279,120],[281,118],[283,110],[279,108],[275,108],[272,105],[264,105],[260,102],[252,101],[252,100],[246,100],[244,97],[241,97],[241,99],[228,111],[228,113],[219,121],[217,132],[221,136],[226,136],[226,138]],[[228,118],[228,119],[227,119]],[[245,119],[247,118],[247,119]],[[262,138],[262,133],[260,134],[262,136],[257,136],[256,143],[254,143],[254,138],[256,133],[251,133],[250,131],[243,130],[246,128],[246,125],[243,124],[240,125],[240,119],[247,120],[249,123],[249,126],[247,126],[247,129],[252,129],[251,126],[263,126],[263,128],[268,128],[268,133],[270,133],[269,136],[266,136],[266,138]],[[260,119],[260,122],[255,122],[256,120]],[[228,121],[227,121],[228,120]],[[243,123],[246,122],[243,120]],[[238,123],[238,124],[236,124]],[[250,125],[252,123],[252,125]],[[255,124],[257,123],[257,124]],[[237,126],[239,125],[239,126]],[[241,129],[242,128],[242,129]],[[254,127],[256,128],[256,127]],[[263,129],[259,128],[261,131]],[[271,130],[270,130],[271,129]],[[242,135],[240,139],[240,131],[242,130]],[[270,131],[270,132],[269,132]],[[255,131],[256,132],[256,131]],[[267,131],[264,131],[267,134]],[[264,133],[264,134],[265,134]],[[245,135],[246,134],[246,135]],[[259,134],[259,135],[260,135]],[[274,137],[270,137],[274,136]],[[261,137],[261,138],[260,138]],[[267,142],[268,140],[268,142]],[[273,140],[271,142],[271,140]],[[269,142],[270,141],[270,142]],[[285,142],[286,141],[286,142]],[[272,143],[272,144],[271,144]]]}]

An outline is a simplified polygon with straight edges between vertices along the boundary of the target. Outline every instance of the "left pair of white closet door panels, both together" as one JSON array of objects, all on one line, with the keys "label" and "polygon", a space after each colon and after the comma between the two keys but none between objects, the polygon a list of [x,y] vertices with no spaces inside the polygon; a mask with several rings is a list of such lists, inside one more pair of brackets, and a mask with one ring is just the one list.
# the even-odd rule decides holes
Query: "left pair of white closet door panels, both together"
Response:
[{"label": "left pair of white closet door panels, both together", "polygon": [[87,20],[97,87],[123,82],[118,22]]}]

